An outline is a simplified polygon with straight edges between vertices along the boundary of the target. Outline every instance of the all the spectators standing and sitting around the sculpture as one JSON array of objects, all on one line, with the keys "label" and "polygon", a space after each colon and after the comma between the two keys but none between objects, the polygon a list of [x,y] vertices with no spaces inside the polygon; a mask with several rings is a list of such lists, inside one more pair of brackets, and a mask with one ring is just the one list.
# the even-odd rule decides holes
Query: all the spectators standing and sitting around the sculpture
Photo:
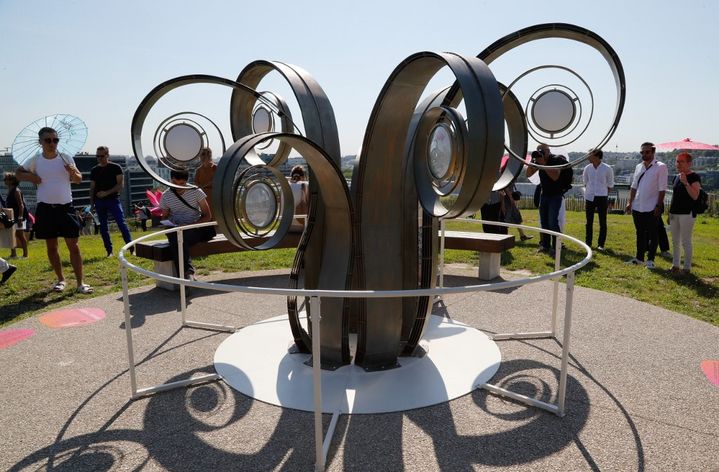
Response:
[{"label": "all the spectators standing and sitting around the sculpture", "polygon": [[[109,161],[109,149],[97,148],[97,165],[90,172],[90,205],[86,214],[79,213],[73,206],[70,184],[79,183],[82,174],[77,169],[72,156],[58,152],[60,139],[52,128],[42,128],[39,133],[42,152],[23,163],[15,173],[6,173],[4,183],[8,188],[6,198],[0,201],[3,208],[12,208],[15,215],[16,247],[11,249],[9,259],[28,257],[27,234],[32,226],[36,237],[45,240],[47,258],[56,280],[52,290],[62,292],[67,286],[62,261],[58,251],[58,239],[63,238],[70,254],[70,264],[75,275],[76,291],[80,294],[93,293],[93,288],[83,278],[83,258],[78,244],[83,221],[91,215],[95,234],[99,229],[107,257],[114,254],[108,220],[112,216],[122,234],[123,240],[132,241],[130,229],[120,202],[122,191],[122,168]],[[692,171],[692,156],[683,152],[676,156],[677,176],[671,184],[668,182],[667,166],[655,157],[656,148],[650,142],[641,145],[642,162],[637,164],[630,186],[630,194],[625,213],[632,215],[636,233],[636,252],[627,264],[643,265],[649,269],[656,267],[657,251],[672,257],[671,272],[687,274],[692,267],[692,231],[696,220],[694,202],[699,198],[701,179]],[[594,215],[599,221],[597,251],[605,251],[608,238],[607,212],[611,202],[609,194],[614,187],[612,168],[602,162],[601,150],[589,152],[589,164],[582,171],[582,183],[585,199],[585,242],[592,247],[594,240]],[[539,185],[535,202],[539,208],[540,226],[543,229],[560,232],[561,213],[564,208],[564,194],[571,188],[572,167],[564,156],[552,154],[547,144],[541,143],[532,153],[532,163],[527,166],[526,175],[537,174]],[[212,151],[203,148],[200,151],[200,166],[194,177],[194,186],[187,186],[189,172],[173,170],[171,181],[178,188],[169,188],[163,192],[159,208],[163,221],[173,226],[210,222],[212,216],[212,182],[217,166],[212,161]],[[303,218],[293,221],[291,231],[302,231],[304,217],[308,207],[308,188],[305,171],[302,166],[292,168],[290,188],[295,200],[295,214]],[[28,211],[20,182],[31,182],[37,186],[37,207],[35,215]],[[673,252],[669,254],[662,215],[664,197],[668,186],[673,193],[669,208],[669,227],[672,235]],[[2,198],[0,196],[0,198]],[[517,206],[520,194],[516,187],[509,186],[493,191],[487,203],[482,207],[482,218],[488,221],[522,223],[522,214]],[[141,222],[142,230],[147,229],[150,211],[147,206],[135,205],[136,218]],[[491,223],[484,225],[485,232],[507,233],[507,228]],[[184,231],[183,260],[179,261],[176,234],[168,234],[168,241],[175,254],[175,271],[180,273],[182,263],[185,277],[194,280],[195,269],[190,259],[190,247],[215,236],[215,227],[206,226]],[[519,229],[520,239],[526,241],[533,236]],[[18,256],[17,250],[22,252]],[[538,252],[553,254],[556,249],[555,238],[542,234]],[[684,252],[683,264],[681,251]],[[0,285],[4,284],[17,270],[17,267],[0,258]]]}]

